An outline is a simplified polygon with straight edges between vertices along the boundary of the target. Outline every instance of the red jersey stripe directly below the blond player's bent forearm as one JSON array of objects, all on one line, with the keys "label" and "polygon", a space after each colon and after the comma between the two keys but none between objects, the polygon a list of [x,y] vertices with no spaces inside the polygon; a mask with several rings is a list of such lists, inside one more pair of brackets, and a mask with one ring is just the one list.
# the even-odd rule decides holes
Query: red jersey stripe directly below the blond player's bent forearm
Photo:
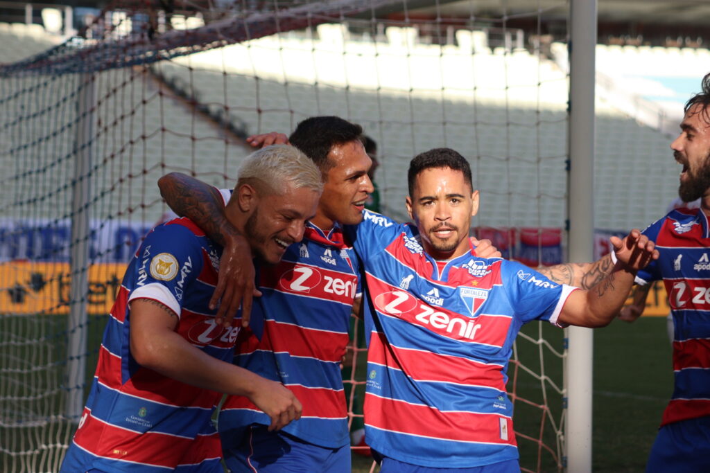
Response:
[{"label": "red jersey stripe directly below the blond player's bent forearm", "polygon": [[[116,377],[116,373],[119,377]],[[221,396],[215,391],[190,386],[143,367],[138,368],[133,376],[121,385],[120,373],[121,358],[114,357],[102,346],[97,374],[99,382],[111,389],[161,404],[208,409],[217,404]]]}]

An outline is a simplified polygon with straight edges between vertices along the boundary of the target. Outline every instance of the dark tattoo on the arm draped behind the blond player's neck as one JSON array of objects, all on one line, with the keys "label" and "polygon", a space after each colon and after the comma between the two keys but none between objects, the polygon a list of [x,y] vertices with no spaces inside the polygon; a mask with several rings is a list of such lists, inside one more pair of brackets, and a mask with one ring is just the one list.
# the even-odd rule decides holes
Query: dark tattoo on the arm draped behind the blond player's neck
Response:
[{"label": "dark tattoo on the arm draped behind the blond player's neck", "polygon": [[185,216],[197,223],[218,245],[226,244],[222,234],[224,228],[232,227],[234,233],[237,233],[236,228],[226,220],[222,196],[214,187],[178,172],[161,178],[158,185],[168,206],[179,216]]}]

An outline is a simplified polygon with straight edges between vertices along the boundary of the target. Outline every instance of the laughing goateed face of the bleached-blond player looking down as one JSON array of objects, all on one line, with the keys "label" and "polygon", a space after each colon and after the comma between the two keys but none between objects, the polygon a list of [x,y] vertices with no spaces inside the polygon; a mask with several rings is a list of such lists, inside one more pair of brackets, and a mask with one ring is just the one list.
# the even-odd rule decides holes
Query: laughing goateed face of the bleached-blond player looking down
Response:
[{"label": "laughing goateed face of the bleached-blond player looking down", "polygon": [[244,225],[246,239],[255,255],[275,265],[289,245],[300,242],[305,222],[315,214],[316,191],[290,184],[284,194],[270,194],[258,199],[256,208]]}]

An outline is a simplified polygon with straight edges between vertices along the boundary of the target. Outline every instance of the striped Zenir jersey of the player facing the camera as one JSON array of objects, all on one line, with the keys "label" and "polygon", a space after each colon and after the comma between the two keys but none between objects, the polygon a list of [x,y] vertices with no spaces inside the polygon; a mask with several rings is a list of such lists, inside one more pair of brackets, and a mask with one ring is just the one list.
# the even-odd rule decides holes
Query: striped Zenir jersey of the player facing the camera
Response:
[{"label": "striped Zenir jersey of the player facing the camera", "polygon": [[523,323],[556,323],[574,288],[474,251],[437,262],[415,226],[377,213],[348,230],[366,278],[368,445],[424,467],[517,458],[513,341]]}]

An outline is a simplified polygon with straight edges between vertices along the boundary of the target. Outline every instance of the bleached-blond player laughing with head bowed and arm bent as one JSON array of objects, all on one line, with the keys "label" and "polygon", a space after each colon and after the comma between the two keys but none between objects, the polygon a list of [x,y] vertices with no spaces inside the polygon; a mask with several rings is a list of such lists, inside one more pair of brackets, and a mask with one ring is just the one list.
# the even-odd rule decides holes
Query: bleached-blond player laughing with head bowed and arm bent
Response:
[{"label": "bleached-blond player laughing with head bowed and arm bent", "polygon": [[[226,218],[256,260],[276,264],[302,239],[322,192],[319,169],[292,146],[246,158]],[[239,318],[207,303],[222,248],[178,218],[154,228],[126,269],[94,382],[62,472],[222,472],[210,420],[222,393],[244,396],[278,430],[300,417],[282,384],[231,364]]]}]

